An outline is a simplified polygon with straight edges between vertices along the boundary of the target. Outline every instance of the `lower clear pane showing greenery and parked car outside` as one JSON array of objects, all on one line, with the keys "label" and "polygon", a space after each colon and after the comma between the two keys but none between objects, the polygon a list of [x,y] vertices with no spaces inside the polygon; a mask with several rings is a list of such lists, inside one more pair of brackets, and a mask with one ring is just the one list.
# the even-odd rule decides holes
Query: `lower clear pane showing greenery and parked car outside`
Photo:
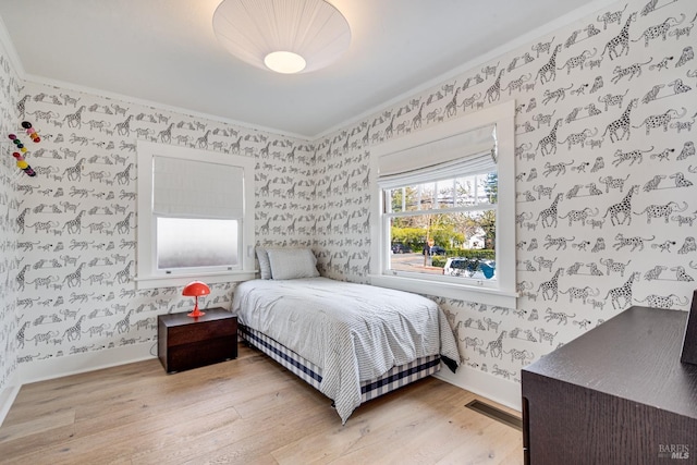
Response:
[{"label": "lower clear pane showing greenery and parked car outside", "polygon": [[496,280],[496,219],[493,209],[391,218],[389,268]]}]

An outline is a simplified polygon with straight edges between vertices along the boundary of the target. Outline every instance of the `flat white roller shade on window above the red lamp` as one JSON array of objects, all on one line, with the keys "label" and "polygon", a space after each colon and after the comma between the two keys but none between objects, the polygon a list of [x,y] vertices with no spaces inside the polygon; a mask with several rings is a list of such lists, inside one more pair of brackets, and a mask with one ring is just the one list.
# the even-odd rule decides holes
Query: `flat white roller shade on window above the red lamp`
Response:
[{"label": "flat white roller shade on window above the red lamp", "polygon": [[168,217],[242,219],[244,170],[152,157],[152,212]]}]

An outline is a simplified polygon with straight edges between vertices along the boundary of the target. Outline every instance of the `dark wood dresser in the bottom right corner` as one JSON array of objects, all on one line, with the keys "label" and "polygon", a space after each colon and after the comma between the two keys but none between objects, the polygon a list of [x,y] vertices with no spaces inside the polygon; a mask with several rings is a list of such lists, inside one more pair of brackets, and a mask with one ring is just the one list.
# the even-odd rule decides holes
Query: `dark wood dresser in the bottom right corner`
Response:
[{"label": "dark wood dresser in the bottom right corner", "polygon": [[522,371],[525,463],[697,463],[687,313],[632,307]]}]

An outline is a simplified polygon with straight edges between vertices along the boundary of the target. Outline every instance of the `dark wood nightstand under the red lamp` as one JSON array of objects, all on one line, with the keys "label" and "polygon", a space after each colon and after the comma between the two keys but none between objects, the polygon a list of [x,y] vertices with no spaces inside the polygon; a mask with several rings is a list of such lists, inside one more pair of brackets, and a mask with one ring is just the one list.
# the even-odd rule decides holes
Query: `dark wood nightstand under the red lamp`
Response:
[{"label": "dark wood nightstand under the red lamp", "polygon": [[223,308],[206,315],[158,316],[158,357],[168,374],[237,358],[237,317]]}]

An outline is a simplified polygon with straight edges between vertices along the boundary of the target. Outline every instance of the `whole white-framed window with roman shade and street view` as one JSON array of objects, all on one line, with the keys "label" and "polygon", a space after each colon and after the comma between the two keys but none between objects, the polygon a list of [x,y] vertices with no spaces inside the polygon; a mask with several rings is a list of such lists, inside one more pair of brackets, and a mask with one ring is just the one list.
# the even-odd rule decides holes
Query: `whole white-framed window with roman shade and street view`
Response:
[{"label": "whole white-framed window with roman shade and street view", "polygon": [[374,284],[515,307],[513,106],[371,150]]}]

